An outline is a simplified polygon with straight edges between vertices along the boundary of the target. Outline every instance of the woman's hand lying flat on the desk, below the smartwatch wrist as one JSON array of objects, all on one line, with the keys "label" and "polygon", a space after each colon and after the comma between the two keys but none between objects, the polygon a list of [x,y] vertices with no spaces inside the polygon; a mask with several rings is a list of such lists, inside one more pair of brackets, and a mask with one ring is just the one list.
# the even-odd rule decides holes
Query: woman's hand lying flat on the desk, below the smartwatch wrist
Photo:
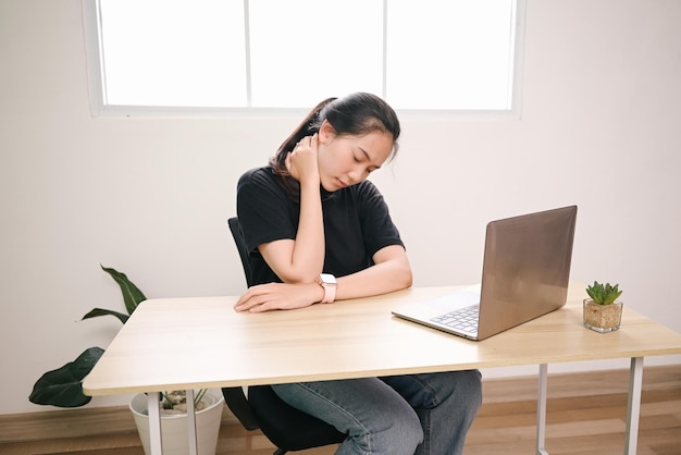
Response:
[{"label": "woman's hand lying flat on the desk, below the smartwatch wrist", "polygon": [[317,283],[268,283],[250,287],[234,305],[236,311],[261,312],[272,309],[309,307],[320,302],[324,290]]}]

